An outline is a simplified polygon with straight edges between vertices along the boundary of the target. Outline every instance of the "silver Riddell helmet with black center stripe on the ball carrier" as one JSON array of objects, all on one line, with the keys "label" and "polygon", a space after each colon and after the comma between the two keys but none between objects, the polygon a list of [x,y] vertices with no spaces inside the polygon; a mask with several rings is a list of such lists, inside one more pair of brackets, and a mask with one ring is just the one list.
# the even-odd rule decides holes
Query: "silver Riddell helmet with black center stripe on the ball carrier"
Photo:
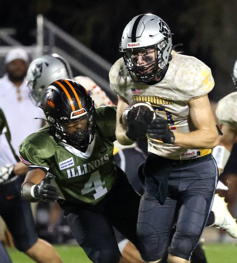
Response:
[{"label": "silver Riddell helmet with black center stripe on the ball carrier", "polygon": [[[125,27],[119,51],[123,53],[125,67],[134,82],[148,82],[164,76],[171,60],[172,38],[167,24],[157,15],[142,14],[134,17]],[[154,59],[146,53],[154,51]],[[137,65],[137,54],[144,65]]]}]

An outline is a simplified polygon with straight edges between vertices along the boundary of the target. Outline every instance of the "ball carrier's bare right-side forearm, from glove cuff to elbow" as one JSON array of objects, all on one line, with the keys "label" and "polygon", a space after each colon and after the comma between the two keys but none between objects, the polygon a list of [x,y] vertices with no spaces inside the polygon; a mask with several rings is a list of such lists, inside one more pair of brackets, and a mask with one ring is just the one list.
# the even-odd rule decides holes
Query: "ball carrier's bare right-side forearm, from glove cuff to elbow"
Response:
[{"label": "ball carrier's bare right-side forearm, from glove cuff to elbow", "polygon": [[217,131],[199,129],[189,133],[174,132],[174,145],[190,149],[212,149],[219,142]]}]

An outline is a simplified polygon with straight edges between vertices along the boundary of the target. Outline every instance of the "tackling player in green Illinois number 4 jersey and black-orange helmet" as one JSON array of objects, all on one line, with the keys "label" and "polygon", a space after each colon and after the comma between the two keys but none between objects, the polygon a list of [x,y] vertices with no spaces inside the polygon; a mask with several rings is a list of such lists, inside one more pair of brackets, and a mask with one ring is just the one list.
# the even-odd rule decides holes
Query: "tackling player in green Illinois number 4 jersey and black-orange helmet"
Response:
[{"label": "tackling player in green Illinois number 4 jersey and black-orange helmet", "polygon": [[49,125],[19,148],[30,170],[22,195],[30,202],[57,200],[89,259],[119,262],[112,226],[137,245],[140,196],[113,163],[116,107],[95,109],[81,85],[61,79],[47,88],[42,108]]}]

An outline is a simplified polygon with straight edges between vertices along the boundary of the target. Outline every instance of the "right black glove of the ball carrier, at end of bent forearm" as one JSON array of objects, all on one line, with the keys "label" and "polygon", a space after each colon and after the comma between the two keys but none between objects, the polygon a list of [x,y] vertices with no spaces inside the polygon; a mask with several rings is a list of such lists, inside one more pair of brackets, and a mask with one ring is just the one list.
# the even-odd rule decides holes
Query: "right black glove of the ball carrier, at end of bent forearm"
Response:
[{"label": "right black glove of the ball carrier, at end of bent forearm", "polygon": [[147,132],[153,139],[161,139],[164,143],[174,142],[174,133],[169,129],[168,122],[163,118],[154,119],[148,126]]}]

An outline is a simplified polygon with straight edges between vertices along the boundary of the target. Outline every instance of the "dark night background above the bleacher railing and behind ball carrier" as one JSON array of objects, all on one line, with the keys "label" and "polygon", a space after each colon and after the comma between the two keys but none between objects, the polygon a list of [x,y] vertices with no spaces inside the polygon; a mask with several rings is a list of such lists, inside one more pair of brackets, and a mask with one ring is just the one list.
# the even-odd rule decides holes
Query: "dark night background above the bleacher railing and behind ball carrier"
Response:
[{"label": "dark night background above the bleacher railing and behind ball carrier", "polygon": [[36,15],[57,26],[113,64],[126,24],[136,15],[153,13],[169,25],[173,45],[182,43],[185,55],[195,56],[212,69],[219,100],[235,91],[230,74],[237,58],[236,0],[180,1],[1,1],[0,28],[15,28],[24,45],[36,42]]}]

